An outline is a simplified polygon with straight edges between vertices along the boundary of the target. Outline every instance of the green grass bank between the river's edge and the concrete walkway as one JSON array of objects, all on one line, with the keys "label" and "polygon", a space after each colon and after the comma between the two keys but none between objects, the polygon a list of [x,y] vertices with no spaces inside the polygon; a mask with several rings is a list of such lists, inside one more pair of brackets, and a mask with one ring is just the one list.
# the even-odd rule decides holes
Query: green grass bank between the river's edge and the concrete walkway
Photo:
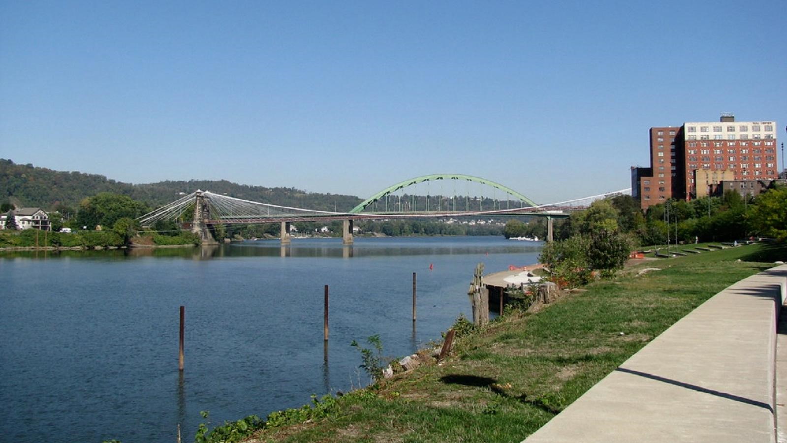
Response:
[{"label": "green grass bank between the river's edge and the concrete walkway", "polygon": [[[746,245],[649,260],[537,314],[504,316],[458,340],[441,366],[351,393],[326,418],[253,441],[522,441],[709,297],[785,257],[785,246]],[[660,271],[637,275],[642,268]]]}]

